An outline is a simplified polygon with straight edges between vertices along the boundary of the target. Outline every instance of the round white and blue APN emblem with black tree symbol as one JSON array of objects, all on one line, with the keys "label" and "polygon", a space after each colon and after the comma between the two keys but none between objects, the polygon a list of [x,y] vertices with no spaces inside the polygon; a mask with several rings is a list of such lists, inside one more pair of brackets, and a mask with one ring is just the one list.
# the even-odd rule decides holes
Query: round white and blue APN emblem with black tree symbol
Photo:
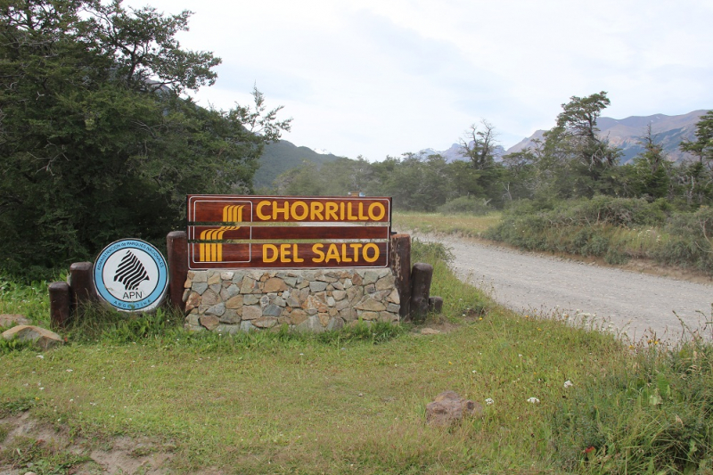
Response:
[{"label": "round white and blue APN emblem with black tree symbol", "polygon": [[125,312],[151,312],[168,290],[166,259],[139,239],[122,239],[105,247],[96,258],[93,275],[99,296]]}]

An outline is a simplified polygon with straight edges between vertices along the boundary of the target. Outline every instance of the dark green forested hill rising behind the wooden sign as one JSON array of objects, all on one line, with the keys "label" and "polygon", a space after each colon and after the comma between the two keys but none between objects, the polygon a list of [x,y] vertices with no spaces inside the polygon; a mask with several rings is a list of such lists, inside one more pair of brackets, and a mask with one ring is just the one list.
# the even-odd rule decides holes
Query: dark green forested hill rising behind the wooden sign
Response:
[{"label": "dark green forested hill rising behind the wooden sign", "polygon": [[255,172],[253,184],[256,190],[269,187],[278,175],[292,168],[301,167],[304,160],[322,164],[337,159],[339,157],[332,153],[315,152],[308,147],[298,147],[286,140],[268,143],[260,156],[260,168]]}]

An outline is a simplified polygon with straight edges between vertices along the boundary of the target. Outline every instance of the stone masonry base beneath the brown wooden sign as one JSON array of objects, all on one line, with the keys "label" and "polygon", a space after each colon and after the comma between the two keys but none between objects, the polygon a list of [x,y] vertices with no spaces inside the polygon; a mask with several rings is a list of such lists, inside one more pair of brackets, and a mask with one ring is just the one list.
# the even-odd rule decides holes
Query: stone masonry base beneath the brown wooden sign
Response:
[{"label": "stone masonry base beneath the brown wooden sign", "polygon": [[185,324],[191,332],[278,329],[324,332],[399,321],[401,301],[389,267],[379,269],[188,271]]}]

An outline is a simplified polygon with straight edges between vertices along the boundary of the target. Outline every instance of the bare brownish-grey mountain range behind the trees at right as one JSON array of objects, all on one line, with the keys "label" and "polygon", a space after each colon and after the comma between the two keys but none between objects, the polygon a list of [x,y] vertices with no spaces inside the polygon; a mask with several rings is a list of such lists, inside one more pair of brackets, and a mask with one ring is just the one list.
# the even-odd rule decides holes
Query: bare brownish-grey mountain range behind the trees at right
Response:
[{"label": "bare brownish-grey mountain range behind the trees at right", "polygon": [[[633,116],[627,119],[611,119],[601,117],[597,120],[599,135],[609,139],[611,145],[619,147],[624,153],[619,159],[621,163],[632,160],[639,152],[643,152],[643,147],[639,141],[646,134],[646,126],[652,125],[652,135],[656,143],[663,146],[664,152],[668,154],[668,160],[684,160],[685,154],[678,149],[678,144],[682,140],[695,140],[696,122],[701,119],[707,110],[693,111],[678,116],[667,116],[655,114],[652,116]],[[545,130],[537,130],[528,138],[522,139],[510,147],[505,153],[521,152],[526,147],[534,145],[534,139],[543,139]]]}]

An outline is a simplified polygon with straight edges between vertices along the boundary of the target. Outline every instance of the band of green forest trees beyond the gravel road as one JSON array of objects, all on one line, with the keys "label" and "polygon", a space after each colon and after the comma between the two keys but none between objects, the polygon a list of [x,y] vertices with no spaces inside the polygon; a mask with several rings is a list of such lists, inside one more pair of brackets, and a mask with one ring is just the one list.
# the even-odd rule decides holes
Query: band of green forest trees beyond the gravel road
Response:
[{"label": "band of green forest trees beyond the gravel road", "polygon": [[483,120],[462,138],[462,161],[404,153],[370,163],[346,158],[305,162],[274,183],[280,194],[392,196],[395,208],[485,212],[520,200],[553,201],[605,195],[665,200],[696,209],[713,200],[713,111],[701,117],[696,140],[681,143],[689,159],[668,160],[651,127],[641,131],[643,152],[621,165],[621,152],[598,134],[597,119],[610,105],[605,92],[573,96],[556,126],[534,147],[497,158],[496,128]]}]

